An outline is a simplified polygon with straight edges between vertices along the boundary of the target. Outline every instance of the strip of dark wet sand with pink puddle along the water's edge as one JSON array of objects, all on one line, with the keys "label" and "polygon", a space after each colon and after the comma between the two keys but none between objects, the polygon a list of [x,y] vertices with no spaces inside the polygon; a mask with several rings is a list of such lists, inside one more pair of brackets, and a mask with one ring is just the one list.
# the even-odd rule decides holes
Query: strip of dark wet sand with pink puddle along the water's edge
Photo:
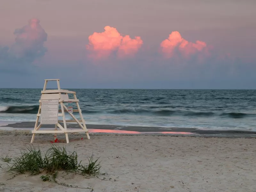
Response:
[{"label": "strip of dark wet sand with pink puddle along the water's edge", "polygon": [[[32,130],[35,122],[17,122],[4,124],[0,129],[14,128]],[[79,128],[77,124],[67,124],[68,129]],[[252,138],[256,132],[243,130],[200,130],[194,128],[162,128],[162,127],[139,127],[139,126],[118,126],[118,125],[92,125],[86,124],[90,132],[120,133],[120,134],[166,134],[199,137],[225,137],[225,138]],[[44,128],[53,128],[52,125],[44,125]]]}]

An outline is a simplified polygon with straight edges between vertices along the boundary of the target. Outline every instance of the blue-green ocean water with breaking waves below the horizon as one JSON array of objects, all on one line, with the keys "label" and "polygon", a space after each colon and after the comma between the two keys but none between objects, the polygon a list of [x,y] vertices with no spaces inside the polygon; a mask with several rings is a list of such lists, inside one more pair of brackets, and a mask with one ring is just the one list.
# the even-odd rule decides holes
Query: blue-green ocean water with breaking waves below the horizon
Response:
[{"label": "blue-green ocean water with breaking waves below the horizon", "polygon": [[[41,90],[0,89],[0,121],[35,121]],[[87,124],[256,131],[256,90],[69,90]]]}]

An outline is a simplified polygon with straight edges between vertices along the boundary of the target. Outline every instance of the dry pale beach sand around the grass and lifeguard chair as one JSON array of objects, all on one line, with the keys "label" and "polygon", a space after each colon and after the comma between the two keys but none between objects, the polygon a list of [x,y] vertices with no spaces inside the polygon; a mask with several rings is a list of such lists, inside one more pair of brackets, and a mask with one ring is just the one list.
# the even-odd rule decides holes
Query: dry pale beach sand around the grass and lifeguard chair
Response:
[{"label": "dry pale beach sand around the grass and lifeguard chair", "polygon": [[[0,154],[18,156],[28,146],[31,135],[26,131],[0,131]],[[175,191],[175,192],[253,192],[256,191],[256,140],[125,136],[91,134],[91,140],[71,135],[68,150],[76,147],[79,159],[87,163],[93,153],[102,160],[97,178],[80,175],[62,178],[59,182],[94,191]],[[65,141],[64,135],[59,139]],[[36,135],[34,145],[46,150],[53,136]],[[63,145],[63,143],[58,143]],[[6,165],[0,162],[2,167]],[[0,191],[90,191],[43,182],[39,177],[18,175],[12,180],[9,173],[0,171]],[[27,177],[25,177],[27,176]],[[110,179],[111,178],[111,179]]]}]

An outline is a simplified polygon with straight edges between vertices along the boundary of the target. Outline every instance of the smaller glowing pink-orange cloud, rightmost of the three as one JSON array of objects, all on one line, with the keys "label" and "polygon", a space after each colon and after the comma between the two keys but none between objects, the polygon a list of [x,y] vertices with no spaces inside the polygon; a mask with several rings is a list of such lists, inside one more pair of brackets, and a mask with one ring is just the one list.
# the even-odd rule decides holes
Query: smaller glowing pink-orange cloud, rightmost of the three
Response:
[{"label": "smaller glowing pink-orange cloud, rightmost of the three", "polygon": [[205,42],[188,42],[181,37],[178,31],[173,31],[169,35],[168,39],[162,41],[160,47],[165,58],[183,57],[189,59],[197,54],[200,59],[201,56],[209,55],[209,51]]}]

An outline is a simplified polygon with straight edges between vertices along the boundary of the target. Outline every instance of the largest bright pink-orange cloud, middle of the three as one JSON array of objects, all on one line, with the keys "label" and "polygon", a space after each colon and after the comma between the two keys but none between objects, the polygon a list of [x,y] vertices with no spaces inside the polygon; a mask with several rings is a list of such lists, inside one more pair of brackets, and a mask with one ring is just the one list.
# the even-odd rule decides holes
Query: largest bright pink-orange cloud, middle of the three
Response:
[{"label": "largest bright pink-orange cloud, middle of the three", "polygon": [[94,32],[89,36],[89,44],[86,45],[90,51],[89,57],[94,59],[108,58],[113,52],[124,58],[134,56],[140,49],[143,41],[139,36],[132,39],[130,36],[122,36],[116,28],[106,26],[102,33]]}]

